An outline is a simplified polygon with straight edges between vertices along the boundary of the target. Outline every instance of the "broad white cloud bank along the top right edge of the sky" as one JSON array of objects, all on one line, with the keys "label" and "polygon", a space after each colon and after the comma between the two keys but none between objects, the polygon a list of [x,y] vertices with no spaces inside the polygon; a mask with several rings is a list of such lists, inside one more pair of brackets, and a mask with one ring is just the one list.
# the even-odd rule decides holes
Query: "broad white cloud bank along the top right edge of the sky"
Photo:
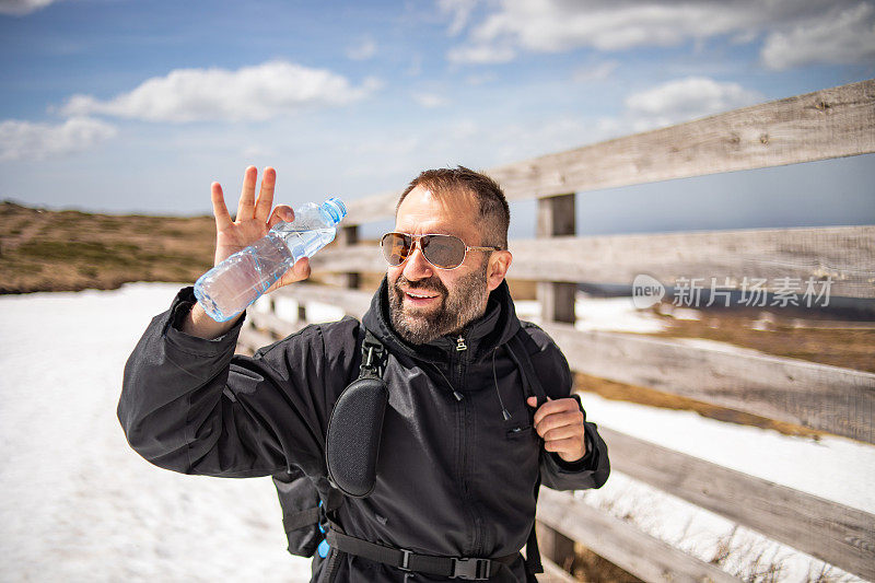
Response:
[{"label": "broad white cloud bank along the top right edge of the sky", "polygon": [[[468,4],[446,0],[442,5],[467,25]],[[506,62],[521,50],[590,47],[612,51],[690,40],[701,44],[721,35],[734,43],[750,43],[765,34],[771,43],[763,49],[767,62],[783,62],[788,59],[783,47],[793,50],[801,45],[810,47],[804,62],[812,62],[825,58],[815,54],[817,43],[805,38],[816,34],[824,38],[830,62],[848,62],[870,55],[875,36],[872,26],[860,24],[872,10],[872,0],[500,0],[489,5],[498,8],[469,25],[468,37],[451,49],[450,60]],[[451,32],[458,28],[454,24]]]}]

